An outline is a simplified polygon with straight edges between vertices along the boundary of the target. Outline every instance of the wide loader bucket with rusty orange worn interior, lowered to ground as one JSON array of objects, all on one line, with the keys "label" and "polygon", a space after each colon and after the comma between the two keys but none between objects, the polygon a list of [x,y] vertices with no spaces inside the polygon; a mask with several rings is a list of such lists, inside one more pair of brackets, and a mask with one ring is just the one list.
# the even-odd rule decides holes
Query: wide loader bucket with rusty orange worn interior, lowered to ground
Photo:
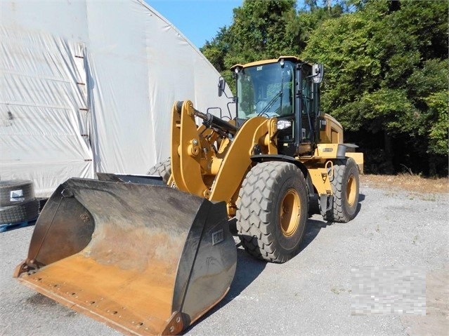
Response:
[{"label": "wide loader bucket with rusty orange worn interior, lowered to ground", "polygon": [[47,201],[15,276],[127,335],[174,335],[226,295],[236,262],[224,203],[70,179]]}]

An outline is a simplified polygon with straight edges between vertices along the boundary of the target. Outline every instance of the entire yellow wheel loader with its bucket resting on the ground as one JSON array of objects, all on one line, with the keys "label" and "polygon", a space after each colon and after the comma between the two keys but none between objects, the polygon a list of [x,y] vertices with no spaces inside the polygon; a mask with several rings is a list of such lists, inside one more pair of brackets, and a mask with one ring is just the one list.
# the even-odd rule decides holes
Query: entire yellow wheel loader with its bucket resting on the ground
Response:
[{"label": "entire yellow wheel loader with its bucket resting on the ground", "polygon": [[170,159],[152,175],[61,184],[15,277],[126,335],[174,335],[228,292],[230,229],[254,257],[286,262],[314,211],[353,219],[363,154],[320,112],[323,67],[280,57],[232,70],[236,118],[176,102]]}]

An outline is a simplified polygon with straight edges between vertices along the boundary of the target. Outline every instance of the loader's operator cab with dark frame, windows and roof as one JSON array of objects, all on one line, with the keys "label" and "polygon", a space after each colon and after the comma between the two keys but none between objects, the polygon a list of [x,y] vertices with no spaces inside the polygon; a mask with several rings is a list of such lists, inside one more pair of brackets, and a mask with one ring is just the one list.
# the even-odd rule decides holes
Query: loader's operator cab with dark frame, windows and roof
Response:
[{"label": "loader's operator cab with dark frame, windows and roof", "polygon": [[313,154],[319,136],[323,67],[295,57],[235,65],[237,125],[254,116],[278,119],[278,153]]}]

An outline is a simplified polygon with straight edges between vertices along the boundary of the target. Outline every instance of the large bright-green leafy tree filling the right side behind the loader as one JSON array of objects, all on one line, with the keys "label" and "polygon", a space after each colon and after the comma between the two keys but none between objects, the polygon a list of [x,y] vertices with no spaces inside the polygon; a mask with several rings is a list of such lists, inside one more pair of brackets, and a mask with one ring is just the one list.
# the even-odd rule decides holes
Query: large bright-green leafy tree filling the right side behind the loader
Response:
[{"label": "large bright-green leafy tree filling the right side behind the loader", "polygon": [[447,169],[448,3],[394,5],[363,1],[325,20],[302,57],[326,65],[323,109],[367,146],[368,167],[385,161],[385,173],[401,164],[435,173],[444,157]]}]

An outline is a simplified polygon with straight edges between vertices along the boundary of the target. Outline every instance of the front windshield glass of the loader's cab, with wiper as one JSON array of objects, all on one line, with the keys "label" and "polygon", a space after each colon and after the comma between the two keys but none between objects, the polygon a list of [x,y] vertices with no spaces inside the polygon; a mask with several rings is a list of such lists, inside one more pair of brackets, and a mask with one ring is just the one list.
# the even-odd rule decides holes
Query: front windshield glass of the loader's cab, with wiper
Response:
[{"label": "front windshield glass of the loader's cab, with wiper", "polygon": [[293,66],[286,61],[247,67],[237,73],[237,117],[293,113]]}]

